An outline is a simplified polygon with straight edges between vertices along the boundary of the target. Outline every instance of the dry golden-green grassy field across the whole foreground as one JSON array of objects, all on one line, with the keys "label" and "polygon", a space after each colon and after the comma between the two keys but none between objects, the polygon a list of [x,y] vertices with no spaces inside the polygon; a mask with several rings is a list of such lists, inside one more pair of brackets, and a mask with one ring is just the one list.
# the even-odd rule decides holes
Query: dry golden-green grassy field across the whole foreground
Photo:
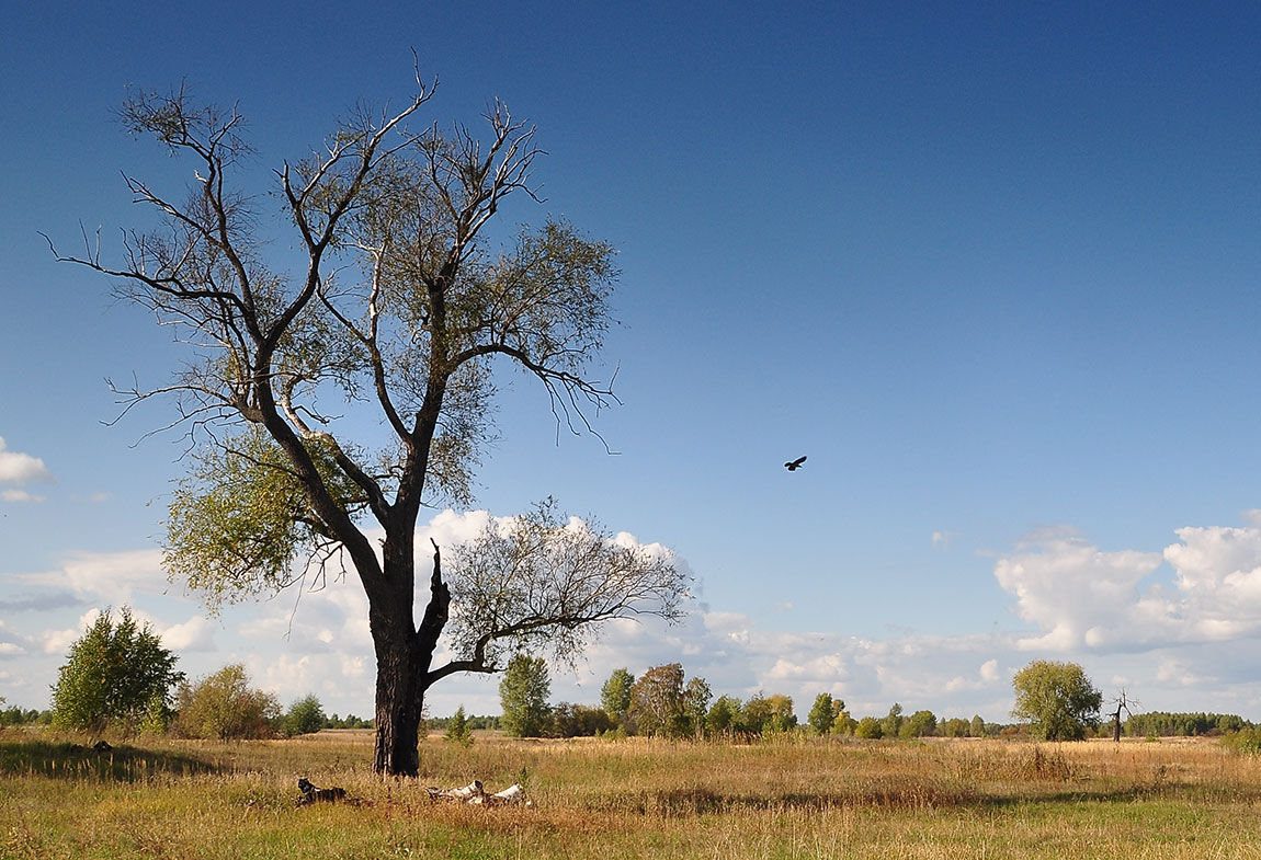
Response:
[{"label": "dry golden-green grassy field across the whole foreground", "polygon": [[[1213,740],[435,737],[419,781],[375,777],[366,732],[72,743],[0,734],[0,857],[1261,857],[1261,758]],[[362,802],[299,807],[300,776]],[[424,791],[474,778],[535,805]]]}]

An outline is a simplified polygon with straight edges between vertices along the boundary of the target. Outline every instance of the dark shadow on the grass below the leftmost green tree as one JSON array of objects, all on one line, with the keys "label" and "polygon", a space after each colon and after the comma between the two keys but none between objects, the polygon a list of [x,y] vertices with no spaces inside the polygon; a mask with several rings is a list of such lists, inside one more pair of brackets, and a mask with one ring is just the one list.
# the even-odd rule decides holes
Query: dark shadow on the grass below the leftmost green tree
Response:
[{"label": "dark shadow on the grass below the leftmost green tree", "polygon": [[92,747],[47,740],[0,742],[0,776],[141,782],[153,777],[202,776],[222,768],[193,755],[153,752],[135,747]]}]

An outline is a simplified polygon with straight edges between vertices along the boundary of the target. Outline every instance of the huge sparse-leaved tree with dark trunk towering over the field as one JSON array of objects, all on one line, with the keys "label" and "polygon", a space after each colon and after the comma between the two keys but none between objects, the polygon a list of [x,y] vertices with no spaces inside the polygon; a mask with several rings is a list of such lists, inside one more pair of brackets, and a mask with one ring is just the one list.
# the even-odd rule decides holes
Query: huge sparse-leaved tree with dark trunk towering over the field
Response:
[{"label": "huge sparse-leaved tree with dark trunk towering over the field", "polygon": [[[484,136],[463,125],[410,130],[431,96],[417,73],[402,110],[352,111],[322,146],[275,171],[267,198],[230,181],[250,152],[235,107],[200,106],[183,88],[141,93],[121,117],[192,160],[187,199],[126,176],[160,227],[125,233],[115,266],[98,238],[84,235],[79,257],[53,249],[112,276],[122,297],[189,348],[170,384],[121,392],[124,414],[170,395],[170,427],[185,428],[194,450],[168,520],[171,577],[213,608],[322,577],[329,564],[358,574],[377,659],[375,766],[392,774],[417,772],[435,681],[498,671],[504,647],[547,631],[557,631],[561,656],[572,655],[591,625],[676,618],[686,593],[668,559],[605,553],[613,544],[599,533],[566,543],[549,510],[509,526],[512,552],[482,541],[517,567],[462,555],[449,583],[435,544],[416,622],[417,516],[470,499],[472,470],[493,436],[496,359],[537,379],[575,432],[586,410],[615,402],[610,383],[588,375],[610,321],[614,249],[551,219],[492,248],[484,228],[504,199],[537,199],[535,128],[496,101]],[[301,254],[296,273],[269,266],[269,200]],[[386,441],[352,441],[366,424],[385,427]],[[528,586],[517,578],[523,559],[533,565]],[[526,603],[513,602],[521,588]],[[458,657],[434,666],[449,620]]]}]

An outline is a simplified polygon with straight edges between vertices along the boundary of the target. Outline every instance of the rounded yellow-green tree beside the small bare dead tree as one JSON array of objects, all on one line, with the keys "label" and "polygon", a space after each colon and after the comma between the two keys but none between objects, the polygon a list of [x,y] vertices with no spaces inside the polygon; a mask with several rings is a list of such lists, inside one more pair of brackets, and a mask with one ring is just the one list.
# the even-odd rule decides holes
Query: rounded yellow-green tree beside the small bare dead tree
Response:
[{"label": "rounded yellow-green tree beside the small bare dead tree", "polygon": [[1011,715],[1028,720],[1037,738],[1081,740],[1098,724],[1103,694],[1077,664],[1035,660],[1015,674],[1011,686]]}]

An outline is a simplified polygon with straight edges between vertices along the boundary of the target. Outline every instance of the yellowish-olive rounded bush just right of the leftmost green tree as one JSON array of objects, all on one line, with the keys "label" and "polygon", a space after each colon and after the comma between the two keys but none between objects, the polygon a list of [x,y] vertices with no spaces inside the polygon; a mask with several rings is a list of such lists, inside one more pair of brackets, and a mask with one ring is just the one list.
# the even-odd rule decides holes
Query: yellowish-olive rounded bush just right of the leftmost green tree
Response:
[{"label": "yellowish-olive rounded bush just right of the leftmost green tree", "polygon": [[178,708],[175,732],[185,738],[270,738],[280,719],[280,703],[270,693],[251,687],[241,664],[224,666],[197,684],[180,685]]}]

